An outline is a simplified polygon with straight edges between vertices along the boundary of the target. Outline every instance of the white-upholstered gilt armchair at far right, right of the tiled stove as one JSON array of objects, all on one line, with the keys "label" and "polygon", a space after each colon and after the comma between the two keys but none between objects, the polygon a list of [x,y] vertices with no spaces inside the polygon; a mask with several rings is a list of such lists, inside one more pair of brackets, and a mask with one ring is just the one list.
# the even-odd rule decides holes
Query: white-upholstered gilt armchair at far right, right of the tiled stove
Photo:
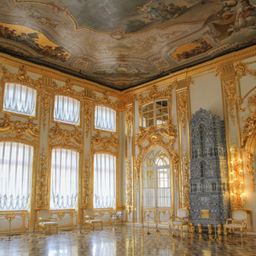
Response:
[{"label": "white-upholstered gilt armchair at far right, right of the tiled stove", "polygon": [[234,210],[232,212],[232,218],[228,218],[226,224],[224,224],[224,235],[227,236],[227,230],[240,230],[241,236],[244,230],[247,234],[247,212],[245,210]]}]

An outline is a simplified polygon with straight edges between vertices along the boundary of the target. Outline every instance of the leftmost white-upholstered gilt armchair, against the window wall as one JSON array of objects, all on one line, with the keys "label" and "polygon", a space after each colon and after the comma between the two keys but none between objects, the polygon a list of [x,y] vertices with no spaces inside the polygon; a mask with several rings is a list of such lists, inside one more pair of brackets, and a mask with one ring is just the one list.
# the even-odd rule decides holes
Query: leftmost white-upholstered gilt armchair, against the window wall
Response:
[{"label": "leftmost white-upholstered gilt armchair, against the window wall", "polygon": [[40,229],[43,229],[43,234],[45,234],[45,230],[48,230],[51,227],[54,227],[57,230],[58,233],[58,222],[57,218],[51,218],[49,210],[38,210],[38,227]]}]

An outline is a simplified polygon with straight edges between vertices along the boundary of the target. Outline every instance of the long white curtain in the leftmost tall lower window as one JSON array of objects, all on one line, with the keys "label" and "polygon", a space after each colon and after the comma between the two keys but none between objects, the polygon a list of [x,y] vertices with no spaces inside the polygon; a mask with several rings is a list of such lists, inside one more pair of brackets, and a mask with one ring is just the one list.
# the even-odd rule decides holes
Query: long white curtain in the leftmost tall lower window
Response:
[{"label": "long white curtain in the leftmost tall lower window", "polygon": [[0,143],[0,209],[26,210],[30,202],[33,147]]}]

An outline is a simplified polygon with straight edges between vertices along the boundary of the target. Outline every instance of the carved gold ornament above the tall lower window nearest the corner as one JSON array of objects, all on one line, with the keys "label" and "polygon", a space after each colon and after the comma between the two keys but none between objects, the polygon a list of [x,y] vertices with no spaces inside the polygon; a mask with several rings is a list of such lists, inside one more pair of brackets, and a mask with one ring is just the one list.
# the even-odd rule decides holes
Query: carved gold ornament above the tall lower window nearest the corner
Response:
[{"label": "carved gold ornament above the tall lower window nearest the corner", "polygon": [[119,150],[119,139],[114,137],[111,133],[110,137],[102,137],[102,132],[97,131],[96,135],[91,137],[91,151],[94,154],[96,151],[110,152],[118,154]]}]

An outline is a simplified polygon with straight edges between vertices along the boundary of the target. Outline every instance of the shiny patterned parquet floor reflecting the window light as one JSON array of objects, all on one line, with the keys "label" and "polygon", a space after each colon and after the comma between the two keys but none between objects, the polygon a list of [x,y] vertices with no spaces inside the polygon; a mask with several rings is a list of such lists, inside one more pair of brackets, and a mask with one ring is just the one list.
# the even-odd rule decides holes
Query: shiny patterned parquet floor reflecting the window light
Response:
[{"label": "shiny patterned parquet floor reflecting the window light", "polygon": [[172,237],[166,229],[155,232],[149,229],[125,226],[119,230],[83,230],[60,231],[57,234],[41,233],[12,236],[0,236],[0,255],[8,256],[62,256],[62,255],[256,255],[256,236],[240,237],[220,236],[219,241],[212,241],[213,236],[183,232],[183,237]]}]

